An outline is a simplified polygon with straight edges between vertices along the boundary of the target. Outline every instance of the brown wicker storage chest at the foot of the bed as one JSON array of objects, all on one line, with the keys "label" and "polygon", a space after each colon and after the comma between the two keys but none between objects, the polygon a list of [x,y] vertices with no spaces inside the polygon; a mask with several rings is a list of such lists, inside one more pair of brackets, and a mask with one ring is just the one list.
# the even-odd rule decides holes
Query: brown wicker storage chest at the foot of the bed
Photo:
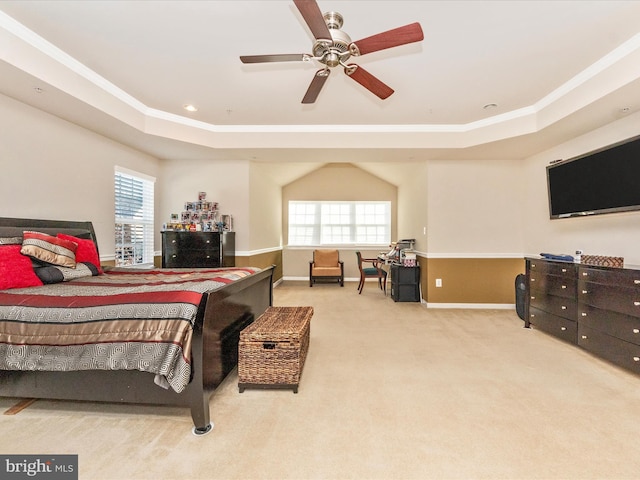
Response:
[{"label": "brown wicker storage chest at the foot of the bed", "polygon": [[291,388],[298,393],[309,350],[313,307],[269,307],[240,332],[238,388]]}]

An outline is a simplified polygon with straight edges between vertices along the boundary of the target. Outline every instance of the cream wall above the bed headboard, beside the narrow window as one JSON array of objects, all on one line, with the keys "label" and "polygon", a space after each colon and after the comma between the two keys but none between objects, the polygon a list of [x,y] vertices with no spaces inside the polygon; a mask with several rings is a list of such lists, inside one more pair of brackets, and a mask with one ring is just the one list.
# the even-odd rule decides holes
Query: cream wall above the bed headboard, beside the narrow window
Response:
[{"label": "cream wall above the bed headboard, beside the narrow window", "polygon": [[157,177],[160,161],[0,95],[0,165],[0,216],[92,221],[113,259],[114,166]]}]

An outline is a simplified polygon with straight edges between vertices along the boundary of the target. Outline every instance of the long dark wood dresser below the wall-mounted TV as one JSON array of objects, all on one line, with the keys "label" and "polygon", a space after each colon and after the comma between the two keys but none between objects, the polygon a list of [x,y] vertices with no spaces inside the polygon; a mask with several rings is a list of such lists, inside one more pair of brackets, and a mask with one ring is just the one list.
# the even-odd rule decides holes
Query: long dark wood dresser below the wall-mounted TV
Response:
[{"label": "long dark wood dresser below the wall-mounted TV", "polygon": [[640,267],[526,259],[525,327],[640,373]]}]

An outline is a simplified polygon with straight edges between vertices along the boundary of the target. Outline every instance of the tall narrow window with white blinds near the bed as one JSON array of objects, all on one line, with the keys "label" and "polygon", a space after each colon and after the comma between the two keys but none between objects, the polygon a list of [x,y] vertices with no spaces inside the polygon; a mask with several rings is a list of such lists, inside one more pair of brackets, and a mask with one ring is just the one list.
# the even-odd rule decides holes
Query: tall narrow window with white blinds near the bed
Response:
[{"label": "tall narrow window with white blinds near the bed", "polygon": [[116,167],[116,266],[153,264],[155,178]]}]

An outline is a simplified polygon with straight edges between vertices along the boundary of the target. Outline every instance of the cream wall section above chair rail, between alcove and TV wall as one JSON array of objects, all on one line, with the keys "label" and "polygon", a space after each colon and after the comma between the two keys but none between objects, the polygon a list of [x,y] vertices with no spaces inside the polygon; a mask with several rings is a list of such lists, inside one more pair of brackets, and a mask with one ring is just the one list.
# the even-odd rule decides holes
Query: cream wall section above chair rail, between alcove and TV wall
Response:
[{"label": "cream wall section above chair rail, between alcove and TV wall", "polygon": [[429,254],[519,255],[524,245],[522,185],[522,163],[515,160],[429,161],[423,187],[428,192]]}]

